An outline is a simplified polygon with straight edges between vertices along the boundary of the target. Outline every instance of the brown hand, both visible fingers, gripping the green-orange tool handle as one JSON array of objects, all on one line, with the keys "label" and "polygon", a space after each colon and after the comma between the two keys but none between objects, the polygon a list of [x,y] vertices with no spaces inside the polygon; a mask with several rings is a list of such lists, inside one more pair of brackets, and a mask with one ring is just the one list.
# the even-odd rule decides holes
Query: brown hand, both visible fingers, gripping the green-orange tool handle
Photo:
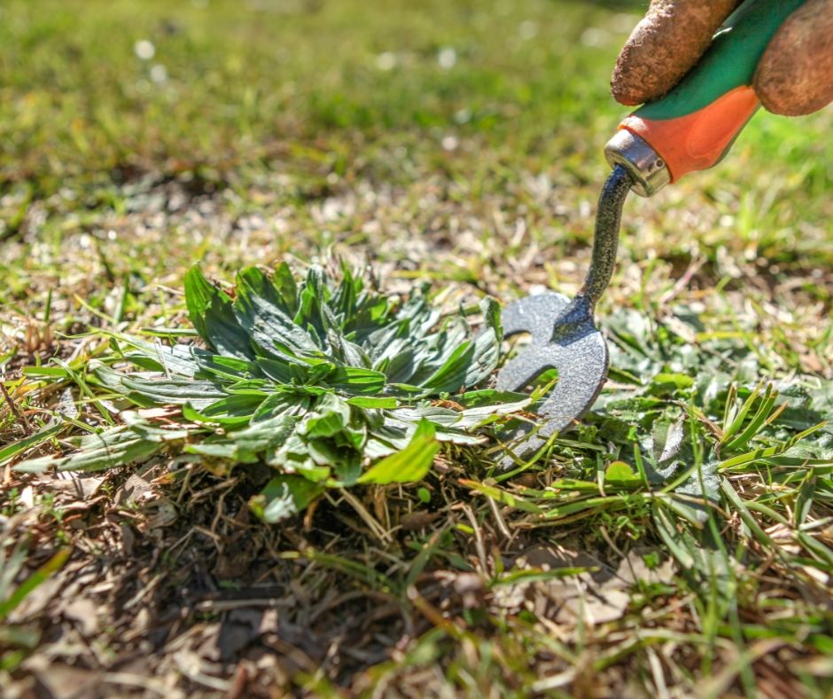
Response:
[{"label": "brown hand, both visible fingers, gripping the green-orange tool handle", "polygon": [[[776,0],[774,0],[776,1]],[[611,92],[623,105],[661,98],[697,64],[742,0],[651,0],[619,53]],[[775,114],[810,114],[833,102],[833,0],[806,0],[764,51],[753,87]]]}]

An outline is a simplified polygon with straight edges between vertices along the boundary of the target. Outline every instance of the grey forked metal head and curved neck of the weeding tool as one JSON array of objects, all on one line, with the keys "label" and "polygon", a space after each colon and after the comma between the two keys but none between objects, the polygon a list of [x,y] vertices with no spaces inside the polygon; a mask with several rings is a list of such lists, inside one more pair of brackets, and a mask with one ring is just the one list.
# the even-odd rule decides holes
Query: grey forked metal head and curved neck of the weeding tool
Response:
[{"label": "grey forked metal head and curved neck of the weeding tool", "polygon": [[[579,295],[572,301],[554,292],[527,296],[503,310],[503,334],[529,333],[532,340],[503,366],[497,388],[523,390],[546,370],[558,372],[555,388],[538,408],[543,420],[535,426],[535,434],[530,435],[533,426],[527,425],[512,436],[512,441],[523,440],[515,450],[521,458],[588,412],[607,378],[607,345],[596,329],[593,310],[611,280],[622,206],[633,184],[627,169],[617,165],[604,185],[596,212],[593,258]],[[511,464],[512,459],[504,460],[504,466]]]}]

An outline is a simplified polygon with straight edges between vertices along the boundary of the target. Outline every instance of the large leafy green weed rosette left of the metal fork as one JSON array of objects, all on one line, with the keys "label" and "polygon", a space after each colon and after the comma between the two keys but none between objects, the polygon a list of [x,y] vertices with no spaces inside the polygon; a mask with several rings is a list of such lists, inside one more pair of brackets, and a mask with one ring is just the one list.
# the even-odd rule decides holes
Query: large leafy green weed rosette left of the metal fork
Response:
[{"label": "large leafy green weed rosette left of the metal fork", "polygon": [[163,452],[217,475],[266,464],[274,477],[251,505],[277,522],[327,488],[420,481],[440,442],[482,444],[530,403],[471,390],[500,357],[493,299],[475,309],[474,334],[465,311],[443,314],[427,287],[400,300],[346,268],[340,278],[312,266],[298,283],[285,263],[271,276],[251,267],[230,295],[192,268],[185,299],[205,347],[113,334],[90,381],[121,424],[18,468],[97,470]]}]

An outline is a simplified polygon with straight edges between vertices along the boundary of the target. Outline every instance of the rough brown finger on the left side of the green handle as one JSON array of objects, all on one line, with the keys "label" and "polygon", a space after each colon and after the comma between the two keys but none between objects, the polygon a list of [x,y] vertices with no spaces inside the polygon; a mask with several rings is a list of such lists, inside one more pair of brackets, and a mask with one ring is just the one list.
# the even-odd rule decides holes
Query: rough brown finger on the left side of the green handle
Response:
[{"label": "rough brown finger on the left side of the green handle", "polygon": [[611,79],[623,105],[661,98],[704,54],[741,0],[652,0],[625,43]]}]

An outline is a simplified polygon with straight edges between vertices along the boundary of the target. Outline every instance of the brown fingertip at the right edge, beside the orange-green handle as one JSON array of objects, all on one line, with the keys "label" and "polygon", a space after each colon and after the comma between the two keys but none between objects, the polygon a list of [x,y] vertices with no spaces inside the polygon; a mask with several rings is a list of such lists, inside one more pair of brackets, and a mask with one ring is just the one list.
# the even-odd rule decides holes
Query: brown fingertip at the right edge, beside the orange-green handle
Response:
[{"label": "brown fingertip at the right edge, beside the orange-green handle", "polygon": [[770,112],[811,114],[833,102],[833,0],[807,0],[767,46],[755,91]]}]

